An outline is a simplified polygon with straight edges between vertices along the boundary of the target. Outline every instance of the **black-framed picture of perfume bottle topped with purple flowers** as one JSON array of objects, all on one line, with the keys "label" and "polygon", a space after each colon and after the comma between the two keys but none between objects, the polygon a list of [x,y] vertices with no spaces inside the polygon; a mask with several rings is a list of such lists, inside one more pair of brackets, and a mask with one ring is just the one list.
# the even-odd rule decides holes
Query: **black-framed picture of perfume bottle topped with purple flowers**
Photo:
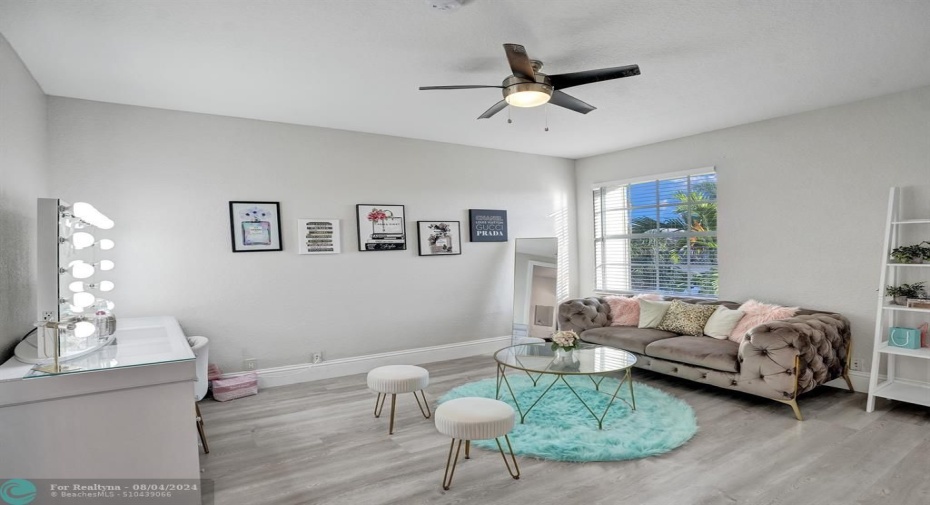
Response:
[{"label": "black-framed picture of perfume bottle topped with purple flowers", "polygon": [[280,251],[278,202],[229,202],[233,252]]}]

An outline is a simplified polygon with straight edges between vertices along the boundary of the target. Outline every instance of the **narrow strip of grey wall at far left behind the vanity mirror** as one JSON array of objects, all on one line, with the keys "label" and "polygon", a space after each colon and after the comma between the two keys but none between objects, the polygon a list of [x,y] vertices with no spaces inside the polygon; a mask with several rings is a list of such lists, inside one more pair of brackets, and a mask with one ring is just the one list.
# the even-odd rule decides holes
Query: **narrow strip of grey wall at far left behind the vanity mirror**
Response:
[{"label": "narrow strip of grey wall at far left behind the vanity mirror", "polygon": [[36,198],[46,194],[46,100],[0,35],[0,362],[36,320]]}]

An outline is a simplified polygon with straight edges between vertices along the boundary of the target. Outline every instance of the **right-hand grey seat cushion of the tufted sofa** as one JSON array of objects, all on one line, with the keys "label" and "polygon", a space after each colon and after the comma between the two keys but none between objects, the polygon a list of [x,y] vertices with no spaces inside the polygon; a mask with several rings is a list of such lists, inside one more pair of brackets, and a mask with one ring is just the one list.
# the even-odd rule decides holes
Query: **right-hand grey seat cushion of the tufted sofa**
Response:
[{"label": "right-hand grey seat cushion of the tufted sofa", "polygon": [[647,356],[721,372],[739,371],[739,364],[736,361],[738,352],[739,344],[736,342],[710,337],[676,336],[657,340],[646,346]]}]

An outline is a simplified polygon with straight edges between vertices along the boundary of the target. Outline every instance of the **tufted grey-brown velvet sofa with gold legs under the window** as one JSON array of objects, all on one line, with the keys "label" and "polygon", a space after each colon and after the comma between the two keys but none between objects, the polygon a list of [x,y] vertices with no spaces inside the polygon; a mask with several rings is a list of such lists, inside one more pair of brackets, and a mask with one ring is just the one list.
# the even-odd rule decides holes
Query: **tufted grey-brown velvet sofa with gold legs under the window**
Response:
[{"label": "tufted grey-brown velvet sofa with gold legs under the window", "polygon": [[[739,307],[716,300],[666,299]],[[790,319],[753,327],[739,344],[610,323],[610,306],[603,297],[559,305],[559,329],[574,330],[585,342],[629,351],[638,358],[638,368],[771,398],[790,405],[798,420],[801,393],[840,377],[853,390],[849,321],[840,314],[802,309]]]}]

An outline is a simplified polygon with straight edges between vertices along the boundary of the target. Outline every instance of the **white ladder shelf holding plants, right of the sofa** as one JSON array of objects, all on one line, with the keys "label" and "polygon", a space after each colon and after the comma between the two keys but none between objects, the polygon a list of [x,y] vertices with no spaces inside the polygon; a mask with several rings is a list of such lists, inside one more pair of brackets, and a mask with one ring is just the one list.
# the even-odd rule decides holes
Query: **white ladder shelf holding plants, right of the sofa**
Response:
[{"label": "white ladder shelf holding plants, right of the sofa", "polygon": [[[888,198],[888,221],[885,229],[881,284],[878,289],[878,313],[875,342],[869,376],[866,410],[875,409],[875,398],[889,398],[930,406],[930,348],[906,349],[888,345],[888,331],[893,326],[916,327],[930,320],[930,310],[895,305],[885,297],[885,286],[926,281],[930,285],[930,262],[905,264],[891,259],[899,246],[930,240],[930,187],[891,188]],[[885,380],[879,382],[881,364],[885,363]],[[901,368],[918,370],[925,380],[902,379]],[[913,375],[913,373],[911,374]]]}]

